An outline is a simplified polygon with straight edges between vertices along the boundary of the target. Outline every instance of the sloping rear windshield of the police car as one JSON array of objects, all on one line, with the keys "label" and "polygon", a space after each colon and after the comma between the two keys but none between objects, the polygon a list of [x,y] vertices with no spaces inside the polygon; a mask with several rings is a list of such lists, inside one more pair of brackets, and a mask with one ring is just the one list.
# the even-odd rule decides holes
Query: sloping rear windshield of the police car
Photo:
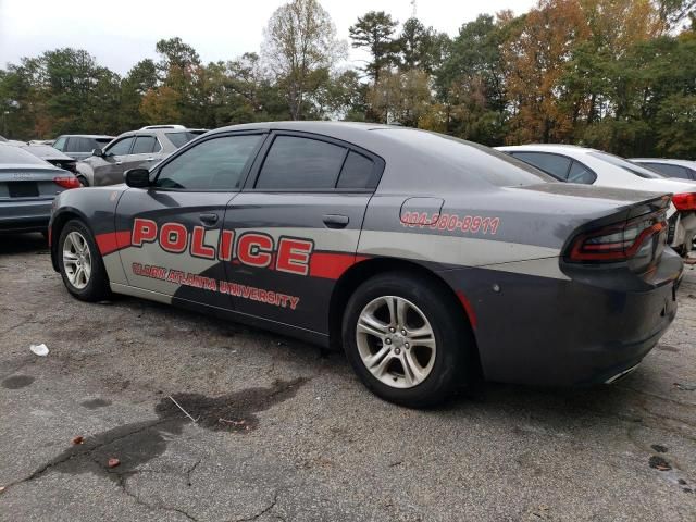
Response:
[{"label": "sloping rear windshield of the police car", "polygon": [[483,145],[452,138],[444,134],[408,128],[381,128],[415,149],[437,156],[461,166],[467,174],[477,176],[499,187],[558,183],[558,179],[505,152]]}]

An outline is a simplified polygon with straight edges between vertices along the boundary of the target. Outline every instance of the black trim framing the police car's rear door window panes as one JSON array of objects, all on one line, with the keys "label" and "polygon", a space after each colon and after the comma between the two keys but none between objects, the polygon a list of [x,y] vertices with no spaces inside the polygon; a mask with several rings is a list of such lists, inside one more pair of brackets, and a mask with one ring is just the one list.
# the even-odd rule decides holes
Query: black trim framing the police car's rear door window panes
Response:
[{"label": "black trim framing the police car's rear door window panes", "polygon": [[[326,144],[331,144],[331,145],[335,145],[338,147],[343,147],[346,149],[345,153],[344,153],[344,159],[340,162],[340,169],[338,170],[338,175],[336,176],[336,181],[334,183],[334,187],[333,188],[302,188],[302,189],[298,189],[298,188],[274,188],[274,189],[269,189],[269,188],[257,188],[257,182],[259,179],[259,174],[261,173],[261,169],[263,167],[263,163],[265,162],[265,159],[269,154],[269,151],[271,150],[271,146],[273,145],[273,141],[275,141],[275,138],[278,136],[294,136],[294,137],[298,137],[298,138],[307,138],[307,139],[314,139],[316,141],[324,141]],[[348,159],[348,153],[352,151],[359,154],[362,154],[364,157],[366,157],[368,159],[372,160],[373,163],[373,171],[372,171],[372,175],[375,178],[375,184],[374,187],[371,188],[336,188],[336,185],[338,184],[339,179],[340,179],[340,174],[343,172],[344,165],[346,164],[346,160]],[[374,194],[377,189],[377,187],[380,186],[380,182],[382,181],[382,175],[384,174],[384,167],[385,167],[385,161],[378,157],[377,154],[375,154],[374,152],[371,152],[366,149],[363,149],[362,147],[359,147],[357,145],[353,145],[349,141],[344,141],[341,139],[337,139],[337,138],[333,138],[331,136],[325,136],[323,134],[316,134],[316,133],[307,133],[307,132],[301,132],[301,130],[283,130],[283,129],[273,129],[270,132],[270,136],[269,138],[265,140],[265,142],[263,144],[263,147],[261,148],[260,152],[257,156],[256,161],[253,162],[253,165],[251,167],[251,172],[249,174],[249,176],[247,177],[247,183],[245,184],[243,191],[245,192],[265,192],[265,194]]]}]

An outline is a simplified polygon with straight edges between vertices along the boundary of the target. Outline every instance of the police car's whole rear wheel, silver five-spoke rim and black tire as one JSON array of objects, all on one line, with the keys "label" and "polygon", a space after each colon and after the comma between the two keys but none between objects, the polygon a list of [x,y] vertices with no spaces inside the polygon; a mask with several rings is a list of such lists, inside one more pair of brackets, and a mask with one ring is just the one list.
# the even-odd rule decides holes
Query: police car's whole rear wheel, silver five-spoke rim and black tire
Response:
[{"label": "police car's whole rear wheel, silver five-spoke rim and black tire", "polygon": [[408,272],[376,275],[348,300],[343,344],[353,370],[378,397],[426,408],[468,384],[473,337],[437,284]]}]

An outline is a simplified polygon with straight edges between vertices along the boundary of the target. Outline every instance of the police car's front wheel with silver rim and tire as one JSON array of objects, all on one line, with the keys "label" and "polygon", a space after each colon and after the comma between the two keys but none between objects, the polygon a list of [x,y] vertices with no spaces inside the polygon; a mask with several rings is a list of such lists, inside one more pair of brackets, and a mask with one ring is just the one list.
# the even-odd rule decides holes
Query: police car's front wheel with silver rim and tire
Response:
[{"label": "police car's front wheel with silver rim and tire", "polygon": [[58,262],[65,288],[77,299],[95,302],[110,296],[103,260],[82,221],[71,220],[61,231]]}]

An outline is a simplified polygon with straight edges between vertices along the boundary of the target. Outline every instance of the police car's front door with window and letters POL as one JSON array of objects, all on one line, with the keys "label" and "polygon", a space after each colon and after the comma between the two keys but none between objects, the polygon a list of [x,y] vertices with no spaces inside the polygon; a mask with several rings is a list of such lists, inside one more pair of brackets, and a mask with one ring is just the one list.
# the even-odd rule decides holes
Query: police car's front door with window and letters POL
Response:
[{"label": "police car's front door with window and letters POL", "polygon": [[220,289],[221,231],[262,141],[260,134],[211,136],[158,166],[149,188],[126,190],[116,229],[130,236],[130,248],[120,251],[129,286],[167,302],[232,308]]}]

